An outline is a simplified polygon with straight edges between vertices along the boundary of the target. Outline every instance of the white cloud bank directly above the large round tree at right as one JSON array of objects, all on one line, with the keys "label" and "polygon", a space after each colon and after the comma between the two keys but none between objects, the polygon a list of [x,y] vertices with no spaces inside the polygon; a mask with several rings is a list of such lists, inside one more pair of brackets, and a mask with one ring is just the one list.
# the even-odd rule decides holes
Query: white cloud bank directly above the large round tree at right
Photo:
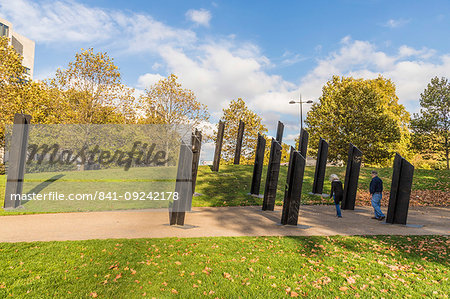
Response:
[{"label": "white cloud bank directly above the large round tree at right", "polygon": [[436,57],[432,49],[417,50],[408,46],[400,47],[398,53],[388,55],[367,41],[352,41],[345,37],[338,51],[319,60],[317,66],[302,78],[299,90],[307,98],[318,98],[322,86],[333,75],[366,79],[382,75],[392,79],[400,103],[413,111],[417,109],[420,93],[432,77],[450,76],[450,54]]}]

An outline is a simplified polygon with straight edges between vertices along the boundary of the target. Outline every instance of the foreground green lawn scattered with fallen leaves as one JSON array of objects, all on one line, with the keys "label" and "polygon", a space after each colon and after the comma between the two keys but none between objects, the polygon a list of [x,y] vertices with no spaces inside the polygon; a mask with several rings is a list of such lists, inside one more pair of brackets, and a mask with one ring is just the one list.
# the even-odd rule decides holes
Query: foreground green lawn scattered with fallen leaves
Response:
[{"label": "foreground green lawn scattered with fallen leaves", "polygon": [[0,243],[0,297],[448,298],[448,236]]}]

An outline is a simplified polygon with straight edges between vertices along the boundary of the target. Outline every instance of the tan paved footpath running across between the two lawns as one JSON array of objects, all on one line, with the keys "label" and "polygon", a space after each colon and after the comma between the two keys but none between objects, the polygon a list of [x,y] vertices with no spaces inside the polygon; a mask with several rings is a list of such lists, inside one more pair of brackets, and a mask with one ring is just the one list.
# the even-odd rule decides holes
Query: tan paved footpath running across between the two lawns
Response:
[{"label": "tan paved footpath running across between the two lawns", "polygon": [[[0,217],[0,242],[110,238],[312,235],[449,235],[450,208],[410,208],[408,226],[370,219],[371,207],[343,211],[334,206],[301,206],[299,225],[282,226],[281,207],[194,208],[186,226],[169,226],[168,211],[112,211]],[[417,227],[421,226],[421,227]]]}]

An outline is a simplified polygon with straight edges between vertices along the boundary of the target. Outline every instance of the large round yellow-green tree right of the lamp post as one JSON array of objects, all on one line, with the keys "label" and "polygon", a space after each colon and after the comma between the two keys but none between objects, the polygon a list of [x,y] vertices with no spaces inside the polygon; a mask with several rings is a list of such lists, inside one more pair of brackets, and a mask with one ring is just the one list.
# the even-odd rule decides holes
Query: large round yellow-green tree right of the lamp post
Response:
[{"label": "large round yellow-green tree right of the lamp post", "polygon": [[331,161],[345,161],[351,142],[363,152],[366,164],[387,165],[395,152],[407,153],[409,119],[391,80],[333,76],[306,124],[311,145],[320,137],[329,142]]}]

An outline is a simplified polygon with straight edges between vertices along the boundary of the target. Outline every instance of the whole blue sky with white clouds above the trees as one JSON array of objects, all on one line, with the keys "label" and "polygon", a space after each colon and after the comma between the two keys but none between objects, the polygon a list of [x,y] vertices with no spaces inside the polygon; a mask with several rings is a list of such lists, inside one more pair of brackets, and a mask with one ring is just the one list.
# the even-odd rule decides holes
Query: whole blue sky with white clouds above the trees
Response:
[{"label": "whole blue sky with white clouds above the trees", "polygon": [[0,0],[0,16],[35,40],[37,79],[93,47],[138,91],[177,74],[212,123],[242,97],[269,134],[286,124],[287,143],[289,100],[317,99],[333,74],[391,78],[410,112],[432,77],[450,77],[450,1]]}]

